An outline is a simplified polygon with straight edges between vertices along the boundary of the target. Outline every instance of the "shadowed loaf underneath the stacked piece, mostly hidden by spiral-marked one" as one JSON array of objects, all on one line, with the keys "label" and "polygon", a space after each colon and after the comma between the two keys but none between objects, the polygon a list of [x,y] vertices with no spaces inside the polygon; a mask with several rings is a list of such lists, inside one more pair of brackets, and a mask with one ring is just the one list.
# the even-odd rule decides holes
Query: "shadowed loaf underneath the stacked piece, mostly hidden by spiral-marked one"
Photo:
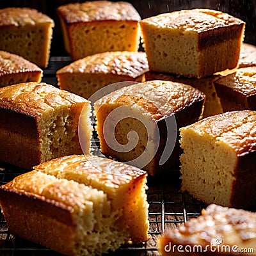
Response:
[{"label": "shadowed loaf underneath the stacked piece, mostly hidden by spiral-marked one", "polygon": [[145,73],[146,81],[150,80],[166,80],[173,81],[176,83],[184,83],[193,86],[194,88],[200,90],[205,94],[204,112],[202,113],[202,118],[212,115],[218,115],[223,113],[220,98],[218,97],[214,81],[216,81],[220,76],[208,76],[202,77],[200,79],[188,78],[182,76],[173,76],[170,74],[161,74],[158,72],[148,71]]}]

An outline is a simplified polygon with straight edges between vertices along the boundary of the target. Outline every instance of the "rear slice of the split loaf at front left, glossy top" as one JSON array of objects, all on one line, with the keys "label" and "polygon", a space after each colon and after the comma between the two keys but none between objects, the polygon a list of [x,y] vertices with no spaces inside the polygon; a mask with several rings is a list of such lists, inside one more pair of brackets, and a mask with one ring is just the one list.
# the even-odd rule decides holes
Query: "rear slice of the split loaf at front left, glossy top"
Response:
[{"label": "rear slice of the split loaf at front left, glossy top", "polygon": [[111,212],[115,212],[115,225],[126,234],[125,242],[141,243],[149,238],[146,172],[92,155],[60,157],[35,166],[35,170],[104,191]]}]

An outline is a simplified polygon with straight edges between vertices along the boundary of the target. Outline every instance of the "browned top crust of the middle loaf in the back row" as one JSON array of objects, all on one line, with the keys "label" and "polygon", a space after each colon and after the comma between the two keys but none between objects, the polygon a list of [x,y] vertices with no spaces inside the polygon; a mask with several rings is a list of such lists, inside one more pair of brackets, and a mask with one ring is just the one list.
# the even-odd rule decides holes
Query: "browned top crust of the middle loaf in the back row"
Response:
[{"label": "browned top crust of the middle loaf in the back row", "polygon": [[58,7],[58,14],[67,24],[95,20],[140,20],[139,13],[127,2],[92,1],[70,3]]}]

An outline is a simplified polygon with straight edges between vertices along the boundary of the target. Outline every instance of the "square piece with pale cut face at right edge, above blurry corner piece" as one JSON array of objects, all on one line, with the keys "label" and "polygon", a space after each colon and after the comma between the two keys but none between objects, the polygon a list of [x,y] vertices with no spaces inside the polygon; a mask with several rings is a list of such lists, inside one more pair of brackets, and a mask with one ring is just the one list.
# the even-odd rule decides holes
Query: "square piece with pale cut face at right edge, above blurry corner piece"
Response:
[{"label": "square piece with pale cut face at right edge, above blurry corner piece", "polygon": [[181,190],[227,207],[256,204],[256,111],[209,116],[180,129]]}]

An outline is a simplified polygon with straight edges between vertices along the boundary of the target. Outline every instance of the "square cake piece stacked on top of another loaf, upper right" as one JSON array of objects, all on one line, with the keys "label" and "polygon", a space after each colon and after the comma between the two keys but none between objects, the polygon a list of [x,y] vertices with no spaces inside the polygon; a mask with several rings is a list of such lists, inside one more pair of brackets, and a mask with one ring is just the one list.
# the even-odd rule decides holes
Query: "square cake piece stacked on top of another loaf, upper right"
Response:
[{"label": "square cake piece stacked on top of another loaf, upper right", "polygon": [[205,77],[237,66],[244,22],[209,9],[181,10],[141,20],[150,70]]}]

